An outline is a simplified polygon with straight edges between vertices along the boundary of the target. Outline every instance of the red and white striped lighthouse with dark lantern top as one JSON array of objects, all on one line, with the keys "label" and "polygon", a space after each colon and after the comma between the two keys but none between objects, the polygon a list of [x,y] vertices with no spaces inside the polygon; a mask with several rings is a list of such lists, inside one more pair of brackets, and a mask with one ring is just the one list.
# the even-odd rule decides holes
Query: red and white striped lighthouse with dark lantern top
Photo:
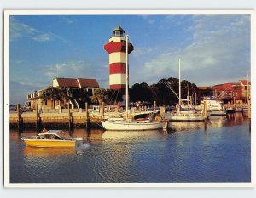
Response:
[{"label": "red and white striped lighthouse with dark lantern top", "polygon": [[[109,54],[109,87],[110,89],[125,90],[126,75],[126,37],[125,31],[120,27],[113,30],[113,36],[104,45]],[[128,43],[128,54],[133,50],[131,43]]]}]

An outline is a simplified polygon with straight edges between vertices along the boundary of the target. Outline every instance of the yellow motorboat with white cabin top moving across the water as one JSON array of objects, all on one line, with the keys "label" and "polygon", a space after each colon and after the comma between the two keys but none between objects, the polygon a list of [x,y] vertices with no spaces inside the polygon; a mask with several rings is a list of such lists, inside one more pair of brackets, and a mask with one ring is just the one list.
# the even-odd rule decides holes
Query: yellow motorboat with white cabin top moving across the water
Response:
[{"label": "yellow motorboat with white cabin top moving across the water", "polygon": [[82,138],[64,137],[61,130],[49,130],[37,136],[22,137],[26,146],[32,147],[75,147],[77,140]]}]

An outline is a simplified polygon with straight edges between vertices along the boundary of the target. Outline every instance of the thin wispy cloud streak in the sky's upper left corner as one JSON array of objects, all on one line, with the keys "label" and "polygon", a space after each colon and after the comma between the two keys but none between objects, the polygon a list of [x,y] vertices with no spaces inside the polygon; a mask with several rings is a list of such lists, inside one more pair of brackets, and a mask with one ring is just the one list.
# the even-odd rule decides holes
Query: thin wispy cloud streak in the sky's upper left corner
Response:
[{"label": "thin wispy cloud streak in the sky's upper left corner", "polygon": [[28,37],[36,42],[49,42],[53,40],[61,40],[67,42],[62,37],[59,37],[51,32],[38,31],[37,29],[21,23],[14,16],[10,17],[10,41],[16,41],[22,37]]}]

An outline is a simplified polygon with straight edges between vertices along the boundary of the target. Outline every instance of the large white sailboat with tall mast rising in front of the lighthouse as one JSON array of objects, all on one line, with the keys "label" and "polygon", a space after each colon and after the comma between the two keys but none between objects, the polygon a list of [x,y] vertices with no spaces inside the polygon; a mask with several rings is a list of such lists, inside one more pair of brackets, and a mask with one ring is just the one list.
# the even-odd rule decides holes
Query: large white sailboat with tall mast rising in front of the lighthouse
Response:
[{"label": "large white sailboat with tall mast rising in front of the lighthouse", "polygon": [[125,95],[126,95],[126,116],[123,120],[115,120],[115,119],[107,119],[102,121],[102,126],[106,130],[113,131],[138,131],[138,130],[154,130],[159,129],[165,126],[165,122],[156,121],[156,119],[143,119],[143,120],[129,120],[129,76],[128,76],[128,35],[126,35],[126,87],[125,87]]}]

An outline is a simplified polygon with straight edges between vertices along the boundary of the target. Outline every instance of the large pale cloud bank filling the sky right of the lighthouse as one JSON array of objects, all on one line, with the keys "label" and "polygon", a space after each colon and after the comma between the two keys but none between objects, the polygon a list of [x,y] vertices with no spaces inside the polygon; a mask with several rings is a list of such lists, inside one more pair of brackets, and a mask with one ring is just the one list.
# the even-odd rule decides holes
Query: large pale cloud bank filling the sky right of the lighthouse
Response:
[{"label": "large pale cloud bank filling the sky right of the lighthouse", "polygon": [[[243,76],[250,67],[250,19],[246,15],[195,15],[187,28],[191,42],[149,59],[140,72],[148,82],[178,76],[201,85],[229,82]],[[145,72],[147,71],[147,72]]]}]

